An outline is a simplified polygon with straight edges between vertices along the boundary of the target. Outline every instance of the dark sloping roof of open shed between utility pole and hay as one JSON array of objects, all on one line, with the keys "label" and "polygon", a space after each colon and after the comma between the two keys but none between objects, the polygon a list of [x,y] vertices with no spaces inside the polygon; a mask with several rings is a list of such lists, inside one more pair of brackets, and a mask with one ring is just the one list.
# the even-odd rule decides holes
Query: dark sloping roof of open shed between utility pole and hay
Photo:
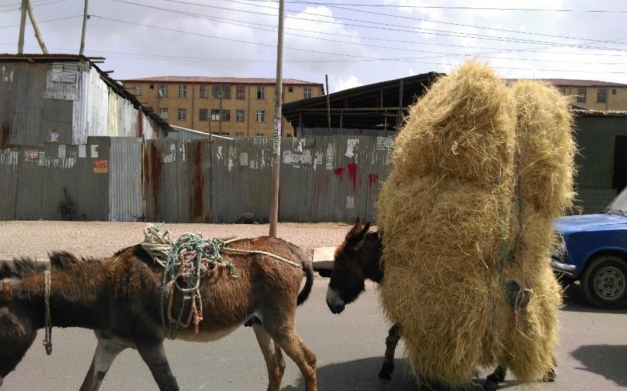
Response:
[{"label": "dark sloping roof of open shed between utility pole and hay", "polygon": [[[417,74],[328,94],[331,128],[391,130],[397,126],[399,99],[401,110],[405,112],[441,75],[435,72]],[[323,95],[285,103],[281,109],[283,117],[294,128],[301,127],[301,121],[304,128],[327,128],[326,100],[327,95]]]}]

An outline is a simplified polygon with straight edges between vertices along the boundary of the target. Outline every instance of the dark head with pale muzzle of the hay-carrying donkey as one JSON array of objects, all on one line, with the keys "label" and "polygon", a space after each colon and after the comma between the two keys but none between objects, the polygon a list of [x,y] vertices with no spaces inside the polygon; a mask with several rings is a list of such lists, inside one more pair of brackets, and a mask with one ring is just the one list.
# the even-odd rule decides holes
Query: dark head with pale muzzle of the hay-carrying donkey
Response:
[{"label": "dark head with pale muzzle of the hay-carrying donkey", "polygon": [[[370,223],[361,225],[359,217],[346,234],[344,243],[335,250],[331,281],[326,291],[326,303],[334,314],[344,311],[346,304],[364,292],[366,278],[373,278],[379,268],[380,245],[376,232],[368,233]],[[367,234],[375,240],[367,241]],[[376,236],[376,237],[375,237]],[[370,270],[370,269],[377,270]]]}]

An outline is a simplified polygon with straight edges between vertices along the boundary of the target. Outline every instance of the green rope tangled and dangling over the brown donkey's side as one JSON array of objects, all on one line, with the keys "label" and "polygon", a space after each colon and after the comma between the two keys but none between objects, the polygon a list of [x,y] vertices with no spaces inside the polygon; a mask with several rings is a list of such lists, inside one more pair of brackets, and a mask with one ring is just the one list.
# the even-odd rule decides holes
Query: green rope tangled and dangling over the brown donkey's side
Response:
[{"label": "green rope tangled and dangling over the brown donkey's side", "polygon": [[[163,226],[156,225],[157,231]],[[205,239],[201,234],[183,234],[175,241],[170,241],[171,247],[166,258],[166,263],[163,270],[163,280],[161,281],[161,325],[163,325],[163,331],[166,333],[166,337],[169,339],[176,339],[177,332],[181,326],[181,319],[183,318],[183,312],[185,311],[186,304],[195,297],[200,296],[200,281],[203,277],[201,261],[206,259],[210,262],[221,263],[228,267],[232,277],[238,278],[237,269],[235,265],[222,258],[220,251],[224,248],[224,241],[221,239]],[[181,251],[194,252],[190,265],[184,265],[179,258]],[[189,267],[189,270],[183,270],[183,267]],[[179,285],[178,277],[183,276],[188,280],[187,286],[181,287]],[[174,294],[172,285],[183,294],[181,303],[181,310],[177,317],[177,322],[172,324],[168,321],[166,325],[166,288],[170,285],[169,294]],[[191,310],[191,309],[190,309]]]}]

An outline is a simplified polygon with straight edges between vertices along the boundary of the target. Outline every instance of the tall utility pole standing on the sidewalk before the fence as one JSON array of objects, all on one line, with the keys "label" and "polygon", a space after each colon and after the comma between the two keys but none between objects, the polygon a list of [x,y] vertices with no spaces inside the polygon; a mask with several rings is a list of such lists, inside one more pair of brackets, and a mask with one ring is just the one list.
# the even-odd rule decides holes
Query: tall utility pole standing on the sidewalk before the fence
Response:
[{"label": "tall utility pole standing on the sidewalk before the fence", "polygon": [[283,10],[279,0],[279,40],[277,43],[277,91],[275,92],[275,131],[272,134],[272,201],[270,201],[270,237],[277,237],[279,220],[279,165],[281,163],[281,100],[283,97]]}]

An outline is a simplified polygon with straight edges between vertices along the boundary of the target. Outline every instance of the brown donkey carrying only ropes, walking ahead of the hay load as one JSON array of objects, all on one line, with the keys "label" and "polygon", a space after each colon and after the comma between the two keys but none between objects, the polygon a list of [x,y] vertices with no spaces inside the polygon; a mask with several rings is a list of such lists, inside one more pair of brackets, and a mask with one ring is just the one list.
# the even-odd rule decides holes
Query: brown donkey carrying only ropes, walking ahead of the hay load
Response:
[{"label": "brown donkey carrying only ropes, walking ahead of the hay load", "polygon": [[[297,363],[306,390],[317,390],[315,354],[295,330],[296,307],[306,301],[312,287],[310,261],[295,245],[270,237],[241,239],[229,247],[270,252],[299,263],[302,270],[263,254],[223,252],[239,278],[217,266],[202,280],[206,310],[199,332],[181,328],[179,339],[215,341],[254,317],[263,323],[255,322],[252,328],[268,367],[268,390],[281,388],[285,368],[281,350]],[[126,348],[137,349],[160,390],[179,390],[163,350],[163,269],[141,246],[106,259],[79,260],[67,252],[53,252],[50,265],[52,325],[90,328],[98,339],[81,390],[97,390],[112,361]],[[306,283],[299,294],[303,270]],[[0,263],[0,281],[1,384],[44,326],[43,267],[31,259],[16,259],[11,266]],[[181,297],[174,302],[181,303]]]}]

